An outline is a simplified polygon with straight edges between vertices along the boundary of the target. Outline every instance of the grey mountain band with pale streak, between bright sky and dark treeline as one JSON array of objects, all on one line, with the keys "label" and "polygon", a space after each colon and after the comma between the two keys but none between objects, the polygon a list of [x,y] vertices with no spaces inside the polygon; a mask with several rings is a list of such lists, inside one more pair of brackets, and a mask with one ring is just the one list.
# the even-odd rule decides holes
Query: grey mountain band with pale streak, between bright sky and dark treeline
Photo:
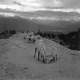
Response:
[{"label": "grey mountain band with pale streak, between bright sky and dark treeline", "polygon": [[[16,12],[15,14],[17,15],[14,17],[0,15],[0,31],[15,29],[16,31],[41,30],[67,33],[80,28],[79,13],[38,11],[33,13]],[[47,18],[44,20],[44,17]],[[50,17],[54,18],[54,20],[49,20]]]}]

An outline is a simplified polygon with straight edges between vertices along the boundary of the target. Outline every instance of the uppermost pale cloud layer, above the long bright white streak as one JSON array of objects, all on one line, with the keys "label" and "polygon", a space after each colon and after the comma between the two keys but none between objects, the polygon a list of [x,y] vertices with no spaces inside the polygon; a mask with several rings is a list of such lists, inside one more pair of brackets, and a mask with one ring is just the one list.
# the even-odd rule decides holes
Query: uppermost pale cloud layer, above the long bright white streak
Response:
[{"label": "uppermost pale cloud layer, above the long bright white streak", "polygon": [[28,7],[46,8],[80,8],[79,0],[0,0],[1,4],[21,4]]}]

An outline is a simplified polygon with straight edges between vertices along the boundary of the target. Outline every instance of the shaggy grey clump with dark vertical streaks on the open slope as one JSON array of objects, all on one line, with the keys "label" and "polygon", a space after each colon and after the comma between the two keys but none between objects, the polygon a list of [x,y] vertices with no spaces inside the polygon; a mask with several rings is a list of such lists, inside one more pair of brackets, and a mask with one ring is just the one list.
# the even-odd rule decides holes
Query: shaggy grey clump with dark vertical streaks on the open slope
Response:
[{"label": "shaggy grey clump with dark vertical streaks on the open slope", "polygon": [[[35,48],[34,58],[43,63],[50,63],[57,60],[57,54],[51,47],[46,46],[43,40],[38,40]],[[55,48],[56,49],[56,48]]]}]

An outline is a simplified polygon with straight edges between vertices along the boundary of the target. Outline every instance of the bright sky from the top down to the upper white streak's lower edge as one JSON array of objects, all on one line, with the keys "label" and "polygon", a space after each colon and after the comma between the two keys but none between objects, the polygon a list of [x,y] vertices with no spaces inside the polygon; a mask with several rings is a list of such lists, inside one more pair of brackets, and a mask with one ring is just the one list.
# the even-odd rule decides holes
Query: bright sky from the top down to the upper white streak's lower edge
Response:
[{"label": "bright sky from the top down to the upper white streak's lower edge", "polygon": [[80,0],[0,0],[0,8],[23,12],[55,9],[80,12]]}]

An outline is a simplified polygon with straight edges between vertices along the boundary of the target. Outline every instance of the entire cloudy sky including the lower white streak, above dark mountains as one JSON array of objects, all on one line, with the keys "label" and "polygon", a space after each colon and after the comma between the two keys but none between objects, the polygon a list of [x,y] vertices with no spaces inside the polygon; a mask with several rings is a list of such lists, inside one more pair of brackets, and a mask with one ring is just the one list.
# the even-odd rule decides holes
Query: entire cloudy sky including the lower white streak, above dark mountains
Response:
[{"label": "entire cloudy sky including the lower white streak, above dark mountains", "polygon": [[[11,12],[7,12],[7,9],[11,10]],[[42,21],[41,23],[47,23],[47,24],[49,23],[50,20],[53,21],[58,19],[76,20],[76,21],[80,20],[80,0],[0,0],[0,10],[3,11],[3,12],[0,11],[0,15],[6,17],[7,16],[14,17],[18,15],[22,18],[29,17],[29,19],[33,20],[37,19],[39,21]],[[6,12],[4,12],[4,10]],[[14,11],[16,11],[17,13]],[[37,11],[45,11],[43,12],[44,17],[40,16],[42,12],[38,13],[39,15],[37,16]],[[52,15],[50,11],[52,11],[51,12]],[[18,12],[22,13],[19,14]],[[48,15],[46,14],[46,12],[49,12],[51,17],[47,17]],[[67,12],[67,13],[77,12],[79,13],[79,17],[76,17],[74,16],[75,15],[74,13],[73,14],[71,13],[72,15],[70,14],[70,16],[66,18],[67,16],[66,14],[60,13],[59,15],[62,15],[63,18],[61,16],[59,16],[60,18],[56,18],[54,15],[55,13],[53,14],[53,12]],[[35,17],[35,15],[37,17]]]}]

